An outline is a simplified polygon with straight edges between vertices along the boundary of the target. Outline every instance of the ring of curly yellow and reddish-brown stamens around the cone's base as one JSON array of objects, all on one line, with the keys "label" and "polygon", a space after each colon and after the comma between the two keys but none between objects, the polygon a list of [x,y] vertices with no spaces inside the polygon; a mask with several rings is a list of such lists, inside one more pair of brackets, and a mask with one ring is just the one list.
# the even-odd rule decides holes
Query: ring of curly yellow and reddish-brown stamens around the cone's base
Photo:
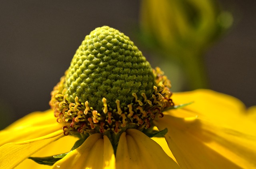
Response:
[{"label": "ring of curly yellow and reddish-brown stamens around the cone's base", "polygon": [[75,98],[75,102],[67,100],[64,94],[66,88],[65,76],[54,87],[51,92],[50,106],[54,109],[54,116],[57,122],[64,123],[64,135],[78,133],[102,133],[112,130],[115,134],[124,131],[126,128],[136,128],[138,130],[150,128],[152,120],[163,117],[162,110],[174,106],[170,98],[172,92],[170,81],[160,68],[153,69],[156,86],[151,96],[143,97],[139,100],[136,93],[132,93],[134,99],[127,106],[120,106],[120,101],[116,100],[116,108],[112,109],[108,105],[106,98],[102,98],[102,110],[94,110],[89,102],[84,103]]}]

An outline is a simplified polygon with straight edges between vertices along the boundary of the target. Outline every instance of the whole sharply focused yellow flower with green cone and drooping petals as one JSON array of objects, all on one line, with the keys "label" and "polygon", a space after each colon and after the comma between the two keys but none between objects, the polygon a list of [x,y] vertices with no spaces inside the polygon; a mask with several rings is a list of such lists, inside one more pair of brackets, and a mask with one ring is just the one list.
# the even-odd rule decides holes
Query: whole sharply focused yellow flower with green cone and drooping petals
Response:
[{"label": "whole sharply focused yellow flower with green cone and drooping petals", "polygon": [[[109,32],[114,33],[111,38]],[[100,98],[96,96],[91,98],[93,94],[97,95],[95,93],[83,92],[86,90],[84,86],[87,89],[90,86],[90,90],[93,90],[93,87],[97,86],[94,81],[101,78],[101,75],[95,75],[97,70],[94,70],[90,75],[97,78],[91,81],[88,79],[91,76],[84,77],[84,71],[80,71],[79,66],[76,65],[80,64],[82,68],[91,60],[88,69],[92,67],[97,69],[100,65],[95,68],[96,63],[101,65],[104,63],[97,60],[101,55],[98,55],[99,53],[94,49],[106,52],[107,49],[103,47],[113,48],[105,41],[101,41],[105,45],[98,44],[97,38],[94,37],[102,37],[102,41],[108,37],[109,41],[120,44],[116,47],[119,54],[113,54],[113,57],[118,56],[122,59],[120,53],[126,53],[140,58],[135,64],[136,69],[141,62],[141,66],[145,66],[144,69],[148,71],[134,70],[135,74],[144,72],[143,75],[146,76],[138,75],[140,78],[134,81],[134,84],[138,85],[138,82],[145,81],[145,78],[147,83],[143,85],[140,82],[142,87],[136,90],[134,90],[136,86],[131,88],[132,91],[124,90],[127,82],[133,85],[127,80],[130,78],[128,75],[126,81],[117,84],[123,87],[123,90],[116,89],[116,93],[104,93],[112,90],[108,87],[104,87],[104,90],[98,88],[100,92],[97,94]],[[113,37],[123,43],[117,43],[116,40],[112,40]],[[126,49],[131,53],[122,50],[120,46],[128,47]],[[92,49],[92,52],[86,54],[87,50],[83,50],[83,47]],[[94,57],[91,57],[92,53]],[[87,55],[87,59],[80,63],[82,60],[80,57],[84,55]],[[133,57],[129,58],[122,65],[129,66],[129,61],[136,60]],[[110,59],[108,66],[111,64],[119,63]],[[168,79],[162,75],[160,69],[151,71],[148,64],[141,52],[119,31],[109,27],[92,31],[79,47],[65,76],[54,88],[50,101],[52,109],[28,114],[0,132],[1,168],[12,169],[16,166],[36,169],[256,167],[254,130],[256,107],[246,110],[238,99],[212,90],[172,94]],[[112,71],[108,77],[115,75],[116,67],[111,68],[104,70]],[[133,70],[132,68],[130,70]],[[125,69],[119,70],[122,73],[125,71]],[[154,77],[152,84],[148,74]],[[117,75],[116,78],[120,78],[122,74],[119,72]],[[79,80],[82,77],[84,79]],[[101,78],[101,81],[100,87],[107,85],[108,79]],[[91,85],[88,85],[90,83]],[[150,89],[151,85],[152,89]],[[152,91],[148,94],[149,90]],[[124,92],[128,92],[126,97],[122,97]],[[141,92],[141,96],[138,92]],[[113,100],[113,96],[118,99]],[[86,98],[86,101],[83,98]],[[191,102],[193,103],[187,104]],[[156,132],[154,128],[160,132]],[[164,138],[152,137],[163,135]],[[52,166],[39,165],[31,159]]]}]

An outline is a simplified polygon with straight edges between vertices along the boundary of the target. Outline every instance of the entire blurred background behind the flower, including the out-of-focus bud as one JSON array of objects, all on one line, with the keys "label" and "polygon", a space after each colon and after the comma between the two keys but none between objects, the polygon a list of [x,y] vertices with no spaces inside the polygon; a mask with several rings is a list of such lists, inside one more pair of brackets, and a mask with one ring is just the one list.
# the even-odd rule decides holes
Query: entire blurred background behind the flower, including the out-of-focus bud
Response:
[{"label": "entire blurred background behind the flower, including the out-of-focus bud", "polygon": [[84,39],[108,25],[172,81],[256,105],[255,0],[0,0],[0,129],[49,108]]}]

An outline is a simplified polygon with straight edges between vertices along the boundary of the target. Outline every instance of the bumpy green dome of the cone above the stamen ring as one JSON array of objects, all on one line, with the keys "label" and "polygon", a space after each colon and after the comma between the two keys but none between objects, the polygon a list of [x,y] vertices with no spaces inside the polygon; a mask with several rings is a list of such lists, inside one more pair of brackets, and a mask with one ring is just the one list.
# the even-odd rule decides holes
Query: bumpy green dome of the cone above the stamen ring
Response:
[{"label": "bumpy green dome of the cone above the stamen ring", "polygon": [[153,92],[152,68],[142,52],[120,31],[103,26],[87,35],[77,49],[66,74],[64,87],[68,100],[78,96],[80,102],[102,112],[102,98],[111,108],[116,99],[121,106],[132,102],[136,93]]}]

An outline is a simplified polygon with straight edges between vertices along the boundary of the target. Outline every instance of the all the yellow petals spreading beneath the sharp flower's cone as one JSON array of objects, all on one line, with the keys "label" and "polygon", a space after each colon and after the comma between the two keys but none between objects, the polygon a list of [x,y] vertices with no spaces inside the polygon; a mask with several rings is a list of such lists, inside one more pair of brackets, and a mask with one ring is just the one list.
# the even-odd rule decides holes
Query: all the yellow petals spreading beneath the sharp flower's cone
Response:
[{"label": "all the yellow petals spreading beneath the sharp flower's cone", "polygon": [[[256,167],[256,107],[246,110],[240,100],[212,90],[174,93],[172,98],[177,103],[194,101],[184,108],[164,112],[164,118],[155,122],[160,130],[168,128],[165,138],[180,167]],[[34,156],[66,153],[71,149],[78,138],[64,136],[62,126],[52,114],[53,110],[31,113],[0,132],[3,168],[13,168],[22,161],[18,168],[51,168],[26,158],[40,149]],[[152,139],[172,157],[164,138]],[[157,143],[140,131],[128,130],[120,138],[115,158],[109,140],[95,134],[54,167],[62,164],[70,165],[66,168],[72,165],[82,168],[175,166]]]}]

